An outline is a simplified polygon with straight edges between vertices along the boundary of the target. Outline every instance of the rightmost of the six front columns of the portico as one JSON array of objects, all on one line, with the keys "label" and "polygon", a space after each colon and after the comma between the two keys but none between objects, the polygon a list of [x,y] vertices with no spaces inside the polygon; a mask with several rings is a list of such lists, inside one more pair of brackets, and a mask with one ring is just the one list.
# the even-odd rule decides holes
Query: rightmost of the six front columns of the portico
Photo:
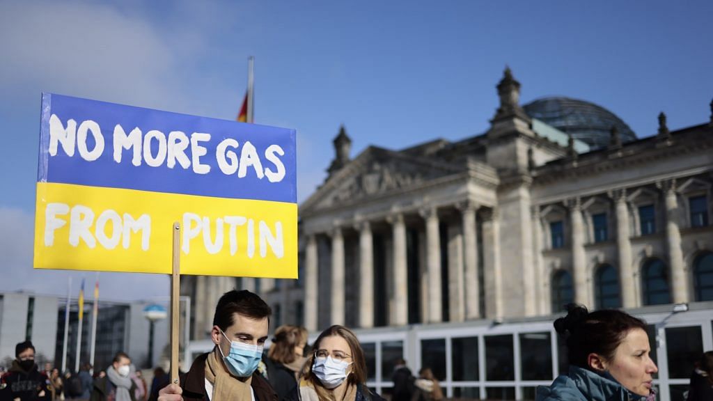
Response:
[{"label": "rightmost of the six front columns of the portico", "polygon": [[478,231],[476,230],[476,203],[461,205],[463,213],[463,256],[465,264],[466,319],[481,317],[480,280],[478,278]]}]

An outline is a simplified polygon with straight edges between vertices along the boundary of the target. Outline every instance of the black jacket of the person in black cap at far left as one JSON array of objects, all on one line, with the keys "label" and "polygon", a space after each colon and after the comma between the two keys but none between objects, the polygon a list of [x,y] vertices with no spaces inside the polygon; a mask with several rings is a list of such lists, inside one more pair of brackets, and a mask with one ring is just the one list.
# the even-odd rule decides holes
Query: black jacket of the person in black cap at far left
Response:
[{"label": "black jacket of the person in black cap at far left", "polygon": [[51,401],[52,385],[43,372],[34,365],[29,372],[22,370],[17,360],[12,367],[0,377],[0,401]]}]

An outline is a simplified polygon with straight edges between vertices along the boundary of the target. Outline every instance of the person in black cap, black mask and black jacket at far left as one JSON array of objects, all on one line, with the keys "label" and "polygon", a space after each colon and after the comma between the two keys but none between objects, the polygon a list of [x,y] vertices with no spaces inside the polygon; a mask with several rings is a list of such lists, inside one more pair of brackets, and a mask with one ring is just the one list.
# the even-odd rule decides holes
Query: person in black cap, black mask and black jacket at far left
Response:
[{"label": "person in black cap, black mask and black jacket at far left", "polygon": [[51,401],[49,377],[35,364],[35,347],[30,341],[15,346],[15,360],[0,377],[1,401]]}]

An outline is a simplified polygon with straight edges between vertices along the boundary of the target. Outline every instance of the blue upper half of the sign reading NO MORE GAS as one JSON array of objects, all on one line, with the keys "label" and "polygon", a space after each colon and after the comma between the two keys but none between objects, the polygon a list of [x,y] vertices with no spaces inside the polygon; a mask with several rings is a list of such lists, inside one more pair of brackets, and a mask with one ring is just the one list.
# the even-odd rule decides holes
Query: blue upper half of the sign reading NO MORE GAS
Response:
[{"label": "blue upper half of the sign reading NO MORE GAS", "polygon": [[[68,135],[74,135],[73,156],[69,156],[63,147],[69,146],[71,141],[58,143],[56,135],[53,141],[56,154],[51,155],[51,119],[55,134],[70,132]],[[71,129],[70,120],[76,124],[74,131]],[[82,130],[80,127],[84,121],[93,123],[86,124]],[[58,122],[65,131],[57,131]],[[90,125],[93,128],[88,131],[86,128]],[[101,153],[96,152],[94,135],[97,126],[104,141]],[[135,128],[139,129],[142,151],[137,153],[140,157],[138,166],[132,163],[136,146],[122,148],[120,162],[116,161],[113,143],[116,126],[120,126],[126,136]],[[79,131],[84,131],[86,135],[78,135]],[[158,132],[147,135],[150,131]],[[172,131],[180,131],[178,135],[173,135],[173,142],[168,141]],[[191,143],[194,133],[199,133],[195,136],[194,145],[198,148],[194,148]],[[210,134],[209,140],[205,140],[207,136],[200,135],[205,133]],[[216,198],[297,203],[295,135],[294,130],[287,128],[188,116],[43,93],[37,180]],[[184,140],[183,146],[170,146],[170,143],[177,143],[176,138],[179,137]],[[185,143],[185,139],[188,139],[188,143]],[[162,142],[166,145],[163,146]],[[220,143],[223,143],[223,146],[220,146]],[[96,160],[83,158],[78,146],[83,147],[85,155],[95,151],[93,155],[98,157]],[[175,161],[172,168],[168,166],[168,153],[172,153],[166,151],[168,147],[178,148],[178,151],[172,151]],[[252,151],[247,151],[250,148]],[[194,155],[193,151],[196,149],[198,150]],[[200,155],[204,152],[204,155]],[[178,153],[185,155],[182,158],[184,165],[180,163],[180,157],[176,156]],[[194,158],[197,158],[198,163],[194,163]],[[219,158],[222,160],[220,165]],[[153,166],[150,166],[147,160],[151,161]],[[186,161],[190,162],[190,166],[185,167]],[[240,176],[242,163],[245,163],[246,168],[242,169]],[[210,171],[206,173],[207,168],[202,167],[204,173],[197,173],[194,167],[200,165],[209,166]]]}]

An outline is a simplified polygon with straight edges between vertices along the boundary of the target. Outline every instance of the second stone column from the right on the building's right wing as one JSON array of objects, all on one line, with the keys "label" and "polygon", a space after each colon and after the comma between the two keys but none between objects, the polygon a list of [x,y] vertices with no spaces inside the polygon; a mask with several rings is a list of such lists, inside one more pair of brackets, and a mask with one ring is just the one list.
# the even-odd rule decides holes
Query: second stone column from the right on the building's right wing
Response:
[{"label": "second stone column from the right on the building's right wing", "polygon": [[619,285],[622,308],[639,306],[634,288],[634,269],[631,257],[631,234],[629,232],[629,208],[626,203],[626,190],[614,191],[617,213],[617,250],[619,251]]}]

